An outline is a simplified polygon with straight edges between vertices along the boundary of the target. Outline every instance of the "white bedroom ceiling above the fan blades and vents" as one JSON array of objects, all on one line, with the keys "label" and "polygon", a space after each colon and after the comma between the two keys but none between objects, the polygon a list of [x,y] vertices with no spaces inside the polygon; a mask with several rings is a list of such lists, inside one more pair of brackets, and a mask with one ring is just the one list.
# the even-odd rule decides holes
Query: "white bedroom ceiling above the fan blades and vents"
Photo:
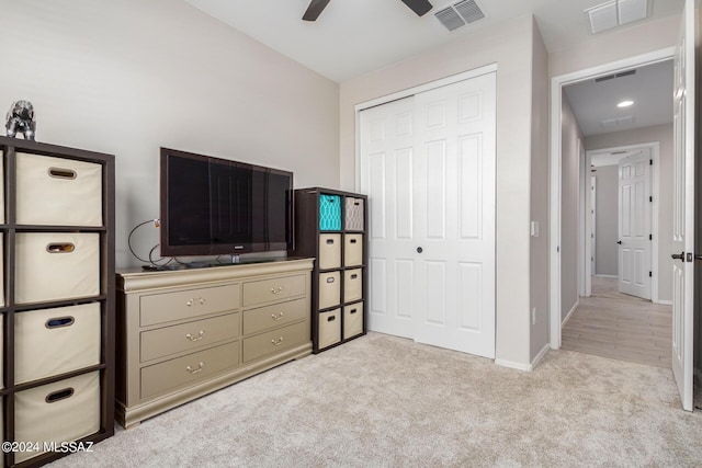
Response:
[{"label": "white bedroom ceiling above the fan blades and vents", "polygon": [[[455,0],[430,0],[434,8],[421,18],[400,0],[331,0],[316,22],[302,20],[309,0],[185,1],[342,82],[529,13],[536,18],[548,52],[568,48],[590,37],[584,10],[607,0],[477,0],[486,18],[454,32],[442,26],[433,13]],[[682,11],[683,0],[652,1],[652,16],[644,21]]]}]

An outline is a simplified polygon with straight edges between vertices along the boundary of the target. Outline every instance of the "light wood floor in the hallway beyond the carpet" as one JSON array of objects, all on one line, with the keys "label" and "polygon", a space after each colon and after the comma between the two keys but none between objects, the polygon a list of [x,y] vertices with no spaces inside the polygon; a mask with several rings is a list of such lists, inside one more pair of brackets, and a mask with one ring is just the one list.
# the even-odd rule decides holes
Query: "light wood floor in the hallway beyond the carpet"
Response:
[{"label": "light wood floor in the hallway beyond the carpet", "polygon": [[592,276],[592,295],[563,328],[562,349],[619,361],[671,366],[671,306],[627,296],[616,278]]}]

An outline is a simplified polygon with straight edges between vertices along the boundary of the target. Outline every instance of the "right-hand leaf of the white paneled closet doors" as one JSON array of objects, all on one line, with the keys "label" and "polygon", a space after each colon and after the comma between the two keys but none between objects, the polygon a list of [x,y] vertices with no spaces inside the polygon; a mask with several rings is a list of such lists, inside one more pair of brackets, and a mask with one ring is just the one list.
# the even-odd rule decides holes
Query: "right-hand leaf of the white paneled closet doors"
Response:
[{"label": "right-hand leaf of the white paneled closet doors", "polygon": [[495,73],[416,96],[415,340],[495,357]]}]

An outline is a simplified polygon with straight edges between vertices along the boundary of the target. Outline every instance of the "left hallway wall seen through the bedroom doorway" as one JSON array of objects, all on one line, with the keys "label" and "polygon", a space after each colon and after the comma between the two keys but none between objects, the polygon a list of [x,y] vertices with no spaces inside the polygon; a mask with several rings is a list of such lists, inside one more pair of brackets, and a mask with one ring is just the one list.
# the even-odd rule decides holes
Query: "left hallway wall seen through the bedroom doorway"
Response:
[{"label": "left hallway wall seen through the bedroom doorway", "polygon": [[578,140],[582,133],[570,107],[562,95],[561,111],[561,320],[578,303],[578,196],[580,157]]}]

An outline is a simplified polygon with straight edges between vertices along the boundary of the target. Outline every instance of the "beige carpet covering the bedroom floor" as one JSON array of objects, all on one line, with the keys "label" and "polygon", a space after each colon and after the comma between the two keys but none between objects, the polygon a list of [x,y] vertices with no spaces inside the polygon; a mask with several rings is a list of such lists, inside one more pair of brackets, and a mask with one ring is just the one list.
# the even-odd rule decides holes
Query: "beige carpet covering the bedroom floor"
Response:
[{"label": "beige carpet covering the bedroom floor", "polygon": [[55,467],[702,465],[669,369],[570,351],[534,372],[370,333],[124,431]]}]

